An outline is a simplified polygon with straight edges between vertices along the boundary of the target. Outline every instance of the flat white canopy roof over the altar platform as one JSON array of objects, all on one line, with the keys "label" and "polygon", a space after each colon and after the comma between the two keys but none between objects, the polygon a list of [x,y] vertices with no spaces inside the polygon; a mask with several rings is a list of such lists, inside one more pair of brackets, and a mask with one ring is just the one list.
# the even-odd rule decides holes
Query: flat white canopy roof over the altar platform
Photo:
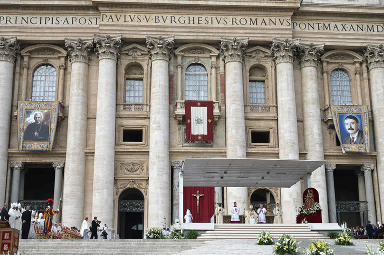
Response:
[{"label": "flat white canopy roof over the altar platform", "polygon": [[326,160],[185,158],[184,187],[288,188]]}]

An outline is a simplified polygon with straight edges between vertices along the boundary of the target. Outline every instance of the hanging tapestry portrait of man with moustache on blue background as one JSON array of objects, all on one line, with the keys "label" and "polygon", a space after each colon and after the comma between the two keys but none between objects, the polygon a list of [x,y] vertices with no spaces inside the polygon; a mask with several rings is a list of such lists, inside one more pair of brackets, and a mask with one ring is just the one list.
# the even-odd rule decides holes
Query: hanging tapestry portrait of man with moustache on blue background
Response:
[{"label": "hanging tapestry portrait of man with moustache on blue background", "polygon": [[368,106],[332,105],[332,119],[343,152],[369,152]]}]

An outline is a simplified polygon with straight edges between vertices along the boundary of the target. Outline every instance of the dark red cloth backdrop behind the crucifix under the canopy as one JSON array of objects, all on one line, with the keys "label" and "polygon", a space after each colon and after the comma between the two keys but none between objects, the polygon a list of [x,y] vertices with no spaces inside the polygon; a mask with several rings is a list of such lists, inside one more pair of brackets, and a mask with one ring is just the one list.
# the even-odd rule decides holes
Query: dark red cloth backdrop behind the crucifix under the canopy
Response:
[{"label": "dark red cloth backdrop behind the crucifix under the canopy", "polygon": [[[189,208],[193,217],[192,223],[209,223],[214,213],[214,187],[184,187],[183,191],[183,215],[186,208]],[[199,195],[204,195],[199,197],[199,213],[197,213],[197,198],[192,196],[196,195],[197,191]]]}]

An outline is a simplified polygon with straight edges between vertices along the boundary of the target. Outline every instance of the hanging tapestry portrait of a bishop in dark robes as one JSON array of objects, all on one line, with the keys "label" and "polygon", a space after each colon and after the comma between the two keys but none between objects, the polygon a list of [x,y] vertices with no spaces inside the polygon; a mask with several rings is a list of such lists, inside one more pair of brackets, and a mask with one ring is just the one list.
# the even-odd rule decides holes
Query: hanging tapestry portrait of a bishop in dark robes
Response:
[{"label": "hanging tapestry portrait of a bishop in dark robes", "polygon": [[51,151],[56,132],[59,102],[18,101],[19,151]]}]

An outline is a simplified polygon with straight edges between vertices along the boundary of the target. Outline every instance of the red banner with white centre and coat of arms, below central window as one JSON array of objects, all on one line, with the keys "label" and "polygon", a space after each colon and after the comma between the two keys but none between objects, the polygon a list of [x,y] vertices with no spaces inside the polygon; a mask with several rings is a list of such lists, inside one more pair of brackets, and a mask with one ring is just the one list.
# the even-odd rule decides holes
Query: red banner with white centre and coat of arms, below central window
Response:
[{"label": "red banner with white centre and coat of arms, below central window", "polygon": [[186,141],[213,141],[213,101],[185,101]]}]

